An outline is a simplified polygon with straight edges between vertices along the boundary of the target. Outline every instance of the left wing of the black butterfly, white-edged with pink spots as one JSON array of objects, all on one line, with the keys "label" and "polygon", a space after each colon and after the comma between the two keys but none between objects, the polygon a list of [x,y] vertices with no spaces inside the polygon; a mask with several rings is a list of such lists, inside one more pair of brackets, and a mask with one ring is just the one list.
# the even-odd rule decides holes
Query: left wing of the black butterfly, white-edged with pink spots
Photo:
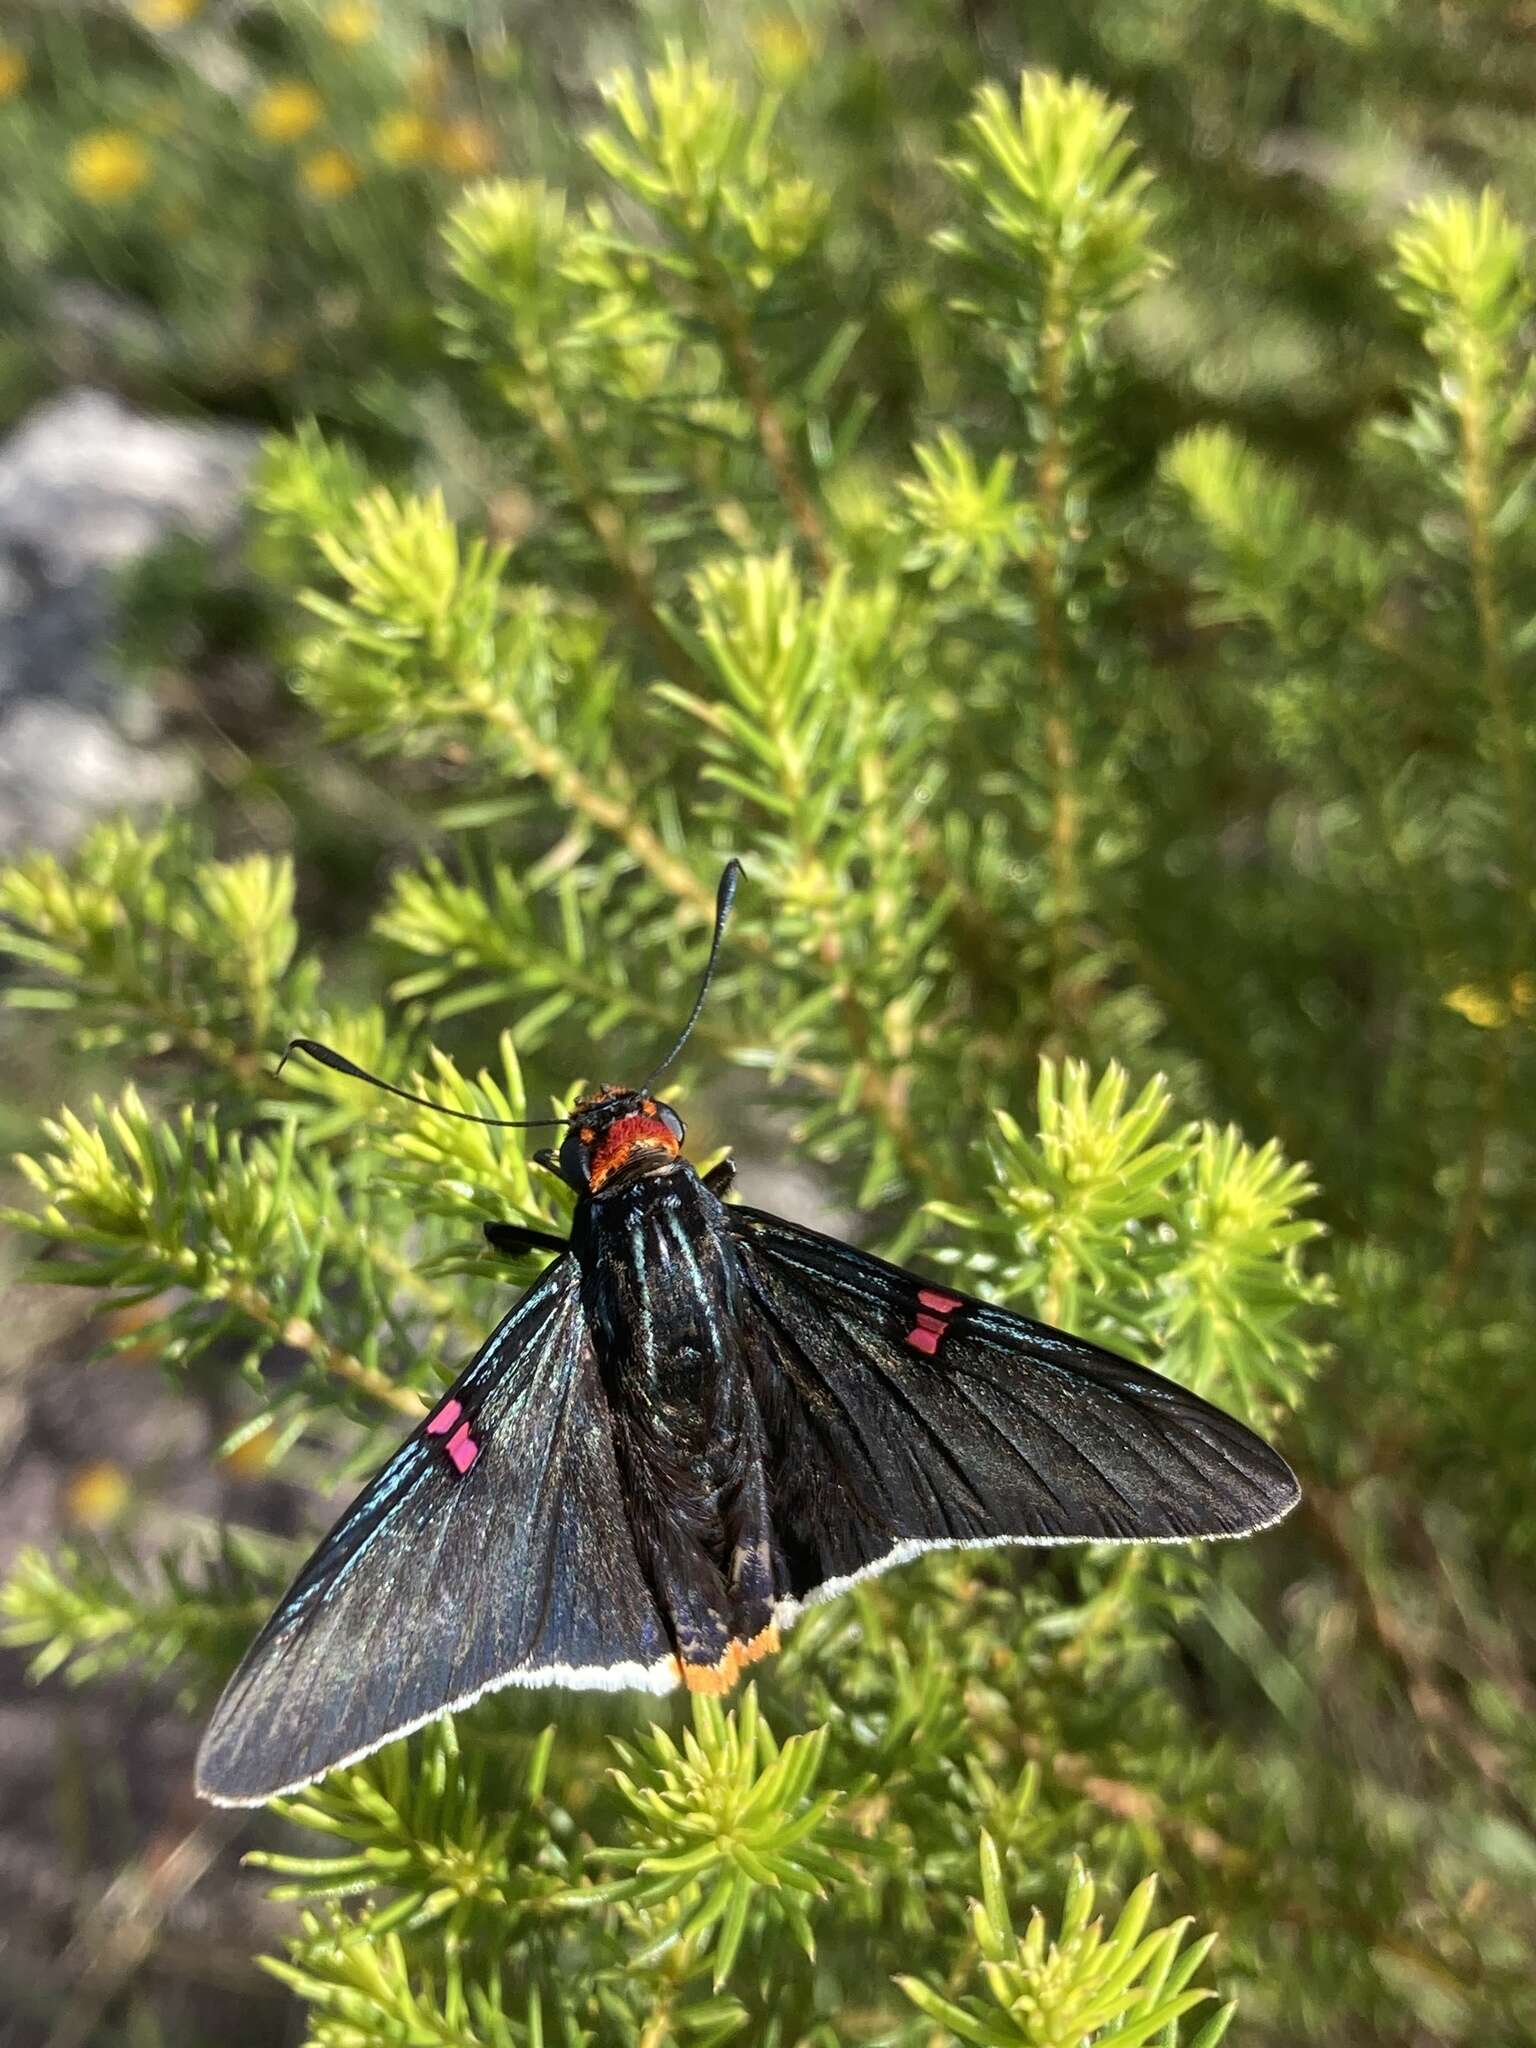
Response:
[{"label": "left wing of the black butterfly, white-edged with pink spots", "polygon": [[498,1686],[666,1690],[670,1649],[565,1255],[299,1573],[215,1710],[199,1790],[258,1804]]}]

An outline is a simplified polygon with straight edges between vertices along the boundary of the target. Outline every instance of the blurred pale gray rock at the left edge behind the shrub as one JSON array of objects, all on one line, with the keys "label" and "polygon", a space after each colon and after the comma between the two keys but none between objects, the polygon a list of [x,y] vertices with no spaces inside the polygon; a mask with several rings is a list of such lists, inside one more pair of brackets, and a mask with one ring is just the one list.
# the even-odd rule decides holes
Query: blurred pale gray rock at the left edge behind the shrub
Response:
[{"label": "blurred pale gray rock at the left edge behind the shrub", "polygon": [[190,793],[113,659],[113,575],[172,532],[231,539],[256,440],[68,391],[0,444],[0,854]]}]

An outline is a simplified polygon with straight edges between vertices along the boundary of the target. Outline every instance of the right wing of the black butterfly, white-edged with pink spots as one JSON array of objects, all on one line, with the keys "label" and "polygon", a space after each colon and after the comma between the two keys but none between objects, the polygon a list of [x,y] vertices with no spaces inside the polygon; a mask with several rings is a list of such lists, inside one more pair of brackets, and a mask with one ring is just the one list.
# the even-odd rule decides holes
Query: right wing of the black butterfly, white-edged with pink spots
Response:
[{"label": "right wing of the black butterfly, white-edged with pink spots", "polygon": [[1286,1462],[1174,1380],[731,1208],[791,1604],[924,1548],[1243,1536]]}]

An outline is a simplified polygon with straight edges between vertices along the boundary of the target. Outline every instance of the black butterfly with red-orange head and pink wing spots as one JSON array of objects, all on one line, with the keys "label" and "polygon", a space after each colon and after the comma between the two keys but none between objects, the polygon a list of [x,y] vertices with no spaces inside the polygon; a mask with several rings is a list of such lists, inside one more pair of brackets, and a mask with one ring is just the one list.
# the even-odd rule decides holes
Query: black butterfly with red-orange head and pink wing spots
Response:
[{"label": "black butterfly with red-orange head and pink wing spots", "polygon": [[578,1194],[569,1239],[483,1227],[551,1260],[252,1642],[205,1798],[295,1792],[502,1686],[727,1692],[803,1608],[924,1550],[1247,1536],[1294,1507],[1286,1462],[1174,1380],[727,1202],[733,1165],[694,1171],[651,1081],[537,1155]]}]

